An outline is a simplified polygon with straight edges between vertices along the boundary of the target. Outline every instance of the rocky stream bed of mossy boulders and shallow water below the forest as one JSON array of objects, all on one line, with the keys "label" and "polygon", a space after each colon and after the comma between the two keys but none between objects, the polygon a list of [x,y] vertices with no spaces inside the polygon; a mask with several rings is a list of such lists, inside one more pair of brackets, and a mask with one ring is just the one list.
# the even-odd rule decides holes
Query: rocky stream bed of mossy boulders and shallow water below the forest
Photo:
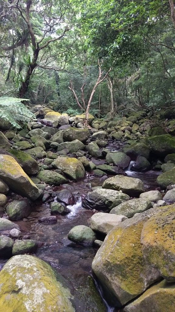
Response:
[{"label": "rocky stream bed of mossy boulders and shallow water below the forest", "polygon": [[173,311],[173,121],[32,109],[0,132],[0,308]]}]

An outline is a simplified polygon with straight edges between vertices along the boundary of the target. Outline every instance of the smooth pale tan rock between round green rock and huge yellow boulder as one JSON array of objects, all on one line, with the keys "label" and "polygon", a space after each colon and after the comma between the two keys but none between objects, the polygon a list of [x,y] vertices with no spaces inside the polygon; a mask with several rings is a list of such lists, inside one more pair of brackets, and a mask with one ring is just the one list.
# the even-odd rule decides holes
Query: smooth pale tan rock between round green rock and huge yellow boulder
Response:
[{"label": "smooth pale tan rock between round green rock and huge yellow boulder", "polygon": [[93,231],[107,234],[113,227],[126,219],[127,217],[122,215],[98,212],[90,218],[90,224]]}]

